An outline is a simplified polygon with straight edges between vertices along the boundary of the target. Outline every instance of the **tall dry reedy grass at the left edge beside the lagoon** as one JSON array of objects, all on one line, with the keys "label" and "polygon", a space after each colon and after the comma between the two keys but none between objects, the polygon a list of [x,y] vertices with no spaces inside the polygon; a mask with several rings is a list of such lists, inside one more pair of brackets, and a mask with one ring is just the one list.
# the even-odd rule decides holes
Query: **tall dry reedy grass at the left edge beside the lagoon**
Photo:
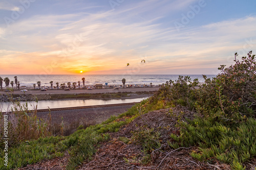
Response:
[{"label": "tall dry reedy grass at the left edge beside the lagoon", "polygon": [[[37,100],[32,111],[28,109],[28,103],[20,104],[19,101],[13,101],[11,96],[10,100],[12,105],[10,111],[0,112],[1,123],[4,121],[3,116],[8,115],[9,146],[16,145],[21,141],[51,136],[51,112],[49,112],[47,119],[41,119],[37,117]],[[1,136],[3,136],[3,132],[4,129],[1,126]]]}]

